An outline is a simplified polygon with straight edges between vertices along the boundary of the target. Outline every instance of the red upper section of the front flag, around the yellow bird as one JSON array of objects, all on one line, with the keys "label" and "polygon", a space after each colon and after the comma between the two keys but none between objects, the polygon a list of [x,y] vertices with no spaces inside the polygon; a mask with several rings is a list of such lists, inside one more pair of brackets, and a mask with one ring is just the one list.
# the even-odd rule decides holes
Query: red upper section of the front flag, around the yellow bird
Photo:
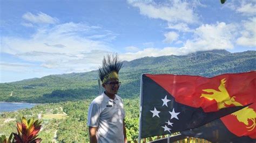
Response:
[{"label": "red upper section of the front flag, around the yellow bird", "polygon": [[[189,75],[150,75],[146,74],[153,81],[168,91],[181,104],[194,108],[203,108],[205,112],[218,111],[218,104],[213,100],[200,97],[202,94],[209,94],[205,89],[220,91],[221,80],[225,78],[225,88],[229,97],[242,105],[253,103],[256,94],[256,71],[240,74],[223,74],[211,78]],[[213,94],[213,93],[210,93]],[[231,99],[225,100],[231,100]],[[233,104],[225,106],[235,106]]]}]

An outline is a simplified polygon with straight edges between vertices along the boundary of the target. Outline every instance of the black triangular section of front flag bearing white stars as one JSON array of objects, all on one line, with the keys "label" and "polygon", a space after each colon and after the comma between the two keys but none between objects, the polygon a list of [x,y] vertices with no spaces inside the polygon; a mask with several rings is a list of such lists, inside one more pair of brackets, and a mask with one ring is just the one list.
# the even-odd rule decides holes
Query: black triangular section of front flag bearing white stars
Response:
[{"label": "black triangular section of front flag bearing white stars", "polygon": [[[196,128],[243,108],[242,106],[224,108],[217,112],[206,113],[201,108],[176,102],[172,95],[146,75],[143,75],[142,80],[142,138]],[[163,105],[165,97],[171,100],[167,102],[167,106]],[[170,112],[178,119],[174,116],[171,119]]]}]

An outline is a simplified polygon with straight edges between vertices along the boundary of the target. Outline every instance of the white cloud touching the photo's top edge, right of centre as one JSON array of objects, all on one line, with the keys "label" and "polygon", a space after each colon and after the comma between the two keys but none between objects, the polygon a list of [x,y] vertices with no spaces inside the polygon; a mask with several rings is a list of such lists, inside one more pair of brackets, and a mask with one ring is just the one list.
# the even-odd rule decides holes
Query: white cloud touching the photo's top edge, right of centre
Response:
[{"label": "white cloud touching the photo's top edge, right of centre", "polygon": [[139,8],[140,14],[156,19],[166,20],[169,23],[196,23],[197,14],[193,12],[190,3],[178,0],[163,5],[154,2],[128,1],[132,6]]}]

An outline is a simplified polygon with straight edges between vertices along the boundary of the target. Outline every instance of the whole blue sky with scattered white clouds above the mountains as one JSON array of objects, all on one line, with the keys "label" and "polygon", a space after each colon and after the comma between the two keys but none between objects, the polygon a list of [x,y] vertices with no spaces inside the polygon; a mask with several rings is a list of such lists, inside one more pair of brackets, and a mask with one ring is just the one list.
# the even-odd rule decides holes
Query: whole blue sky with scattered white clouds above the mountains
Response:
[{"label": "whole blue sky with scattered white clouds above the mountains", "polygon": [[197,51],[256,50],[256,0],[0,0],[0,82]]}]

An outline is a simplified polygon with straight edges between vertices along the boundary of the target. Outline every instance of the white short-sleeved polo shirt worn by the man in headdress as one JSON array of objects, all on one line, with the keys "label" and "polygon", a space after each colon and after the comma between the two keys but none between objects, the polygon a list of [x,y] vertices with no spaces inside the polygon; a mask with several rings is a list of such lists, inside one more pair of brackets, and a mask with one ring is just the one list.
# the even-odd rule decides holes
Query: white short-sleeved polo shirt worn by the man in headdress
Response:
[{"label": "white short-sleeved polo shirt worn by the man in headdress", "polygon": [[113,100],[103,92],[90,104],[87,126],[98,127],[98,142],[124,142],[124,117],[122,98],[116,95]]}]

